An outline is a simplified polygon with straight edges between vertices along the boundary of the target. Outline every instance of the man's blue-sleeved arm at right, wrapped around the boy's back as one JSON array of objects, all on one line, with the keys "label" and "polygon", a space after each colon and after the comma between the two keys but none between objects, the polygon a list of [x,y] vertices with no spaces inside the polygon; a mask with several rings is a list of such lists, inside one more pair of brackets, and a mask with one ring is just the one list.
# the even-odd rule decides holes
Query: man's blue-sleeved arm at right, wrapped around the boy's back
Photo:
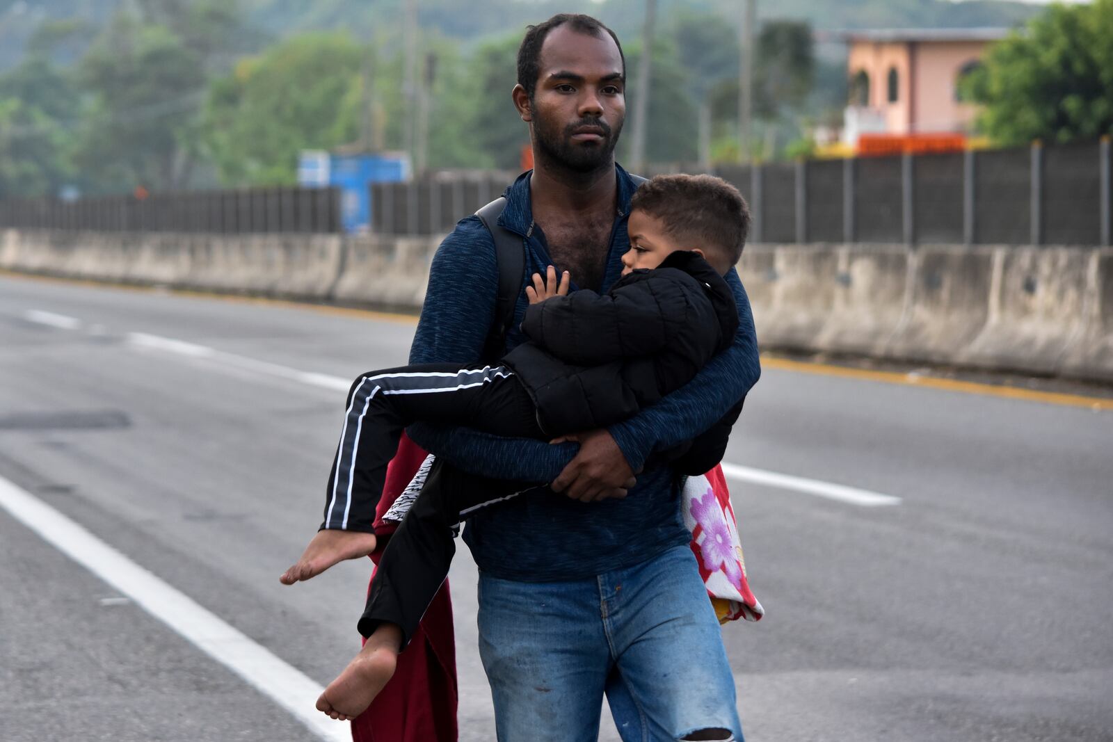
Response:
[{"label": "man's blue-sleeved arm at right, wrapped around the boy's back", "polygon": [[654,451],[695,438],[746,396],[761,375],[754,315],[738,271],[727,284],[738,305],[738,332],[729,348],[715,356],[691,382],[656,405],[608,431],[633,471]]}]

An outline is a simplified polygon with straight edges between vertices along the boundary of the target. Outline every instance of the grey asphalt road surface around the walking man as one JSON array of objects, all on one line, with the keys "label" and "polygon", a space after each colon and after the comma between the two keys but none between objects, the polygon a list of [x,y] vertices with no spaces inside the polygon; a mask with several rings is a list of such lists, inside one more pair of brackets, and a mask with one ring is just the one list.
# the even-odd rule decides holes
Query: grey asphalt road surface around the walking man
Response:
[{"label": "grey asphalt road surface around the walking man", "polygon": [[[277,577],[319,520],[336,380],[404,363],[412,333],[0,276],[0,478],[324,684],[368,565]],[[723,632],[750,742],[1113,739],[1113,410],[769,368],[726,461],[815,484],[731,483],[768,612]],[[286,675],[236,674],[171,629],[193,614],[156,617],[2,506],[0,560],[0,741],[317,739],[260,690]],[[474,583],[464,548],[465,741],[494,739]]]}]

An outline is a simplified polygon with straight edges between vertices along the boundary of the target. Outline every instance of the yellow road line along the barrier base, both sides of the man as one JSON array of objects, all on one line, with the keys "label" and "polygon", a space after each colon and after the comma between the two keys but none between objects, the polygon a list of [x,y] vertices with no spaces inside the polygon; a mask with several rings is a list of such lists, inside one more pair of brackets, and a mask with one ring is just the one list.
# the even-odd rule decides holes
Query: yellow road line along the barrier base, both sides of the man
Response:
[{"label": "yellow road line along the barrier base, both sides of the man", "polygon": [[[215,294],[196,289],[158,288],[149,286],[136,286],[134,284],[112,284],[108,281],[87,280],[81,278],[59,278],[55,276],[40,276],[33,274],[16,273],[0,268],[0,275],[11,278],[24,278],[29,280],[43,280],[53,283],[80,284],[82,286],[121,288],[131,291],[169,291],[173,294],[196,298],[218,299],[220,301],[238,301],[249,304],[265,304],[272,306],[288,307],[293,309],[309,309],[321,314],[341,315],[358,317],[364,319],[377,319],[400,324],[415,325],[417,317],[394,311],[376,311],[374,309],[357,309],[354,307],[336,307],[323,304],[309,304],[305,301],[290,301],[286,299],[268,299],[255,296],[238,296],[232,294]],[[1040,392],[1037,389],[1025,389],[1016,386],[1002,386],[996,384],[983,384],[978,382],[961,382],[957,379],[942,378],[938,376],[923,376],[919,374],[902,374],[899,372],[870,370],[866,368],[853,368],[849,366],[833,366],[830,364],[815,363],[808,360],[791,360],[762,354],[761,366],[764,368],[776,368],[778,370],[799,372],[801,374],[817,374],[820,376],[838,376],[843,378],[856,378],[866,382],[881,382],[885,384],[900,384],[904,386],[918,386],[929,389],[940,389],[944,392],[959,392],[963,394],[978,394],[989,397],[1002,397],[1005,399],[1024,399],[1026,402],[1042,402],[1051,405],[1066,405],[1068,407],[1086,407],[1095,410],[1113,409],[1113,399],[1103,397],[1090,397],[1081,394],[1063,394],[1060,392]]]}]

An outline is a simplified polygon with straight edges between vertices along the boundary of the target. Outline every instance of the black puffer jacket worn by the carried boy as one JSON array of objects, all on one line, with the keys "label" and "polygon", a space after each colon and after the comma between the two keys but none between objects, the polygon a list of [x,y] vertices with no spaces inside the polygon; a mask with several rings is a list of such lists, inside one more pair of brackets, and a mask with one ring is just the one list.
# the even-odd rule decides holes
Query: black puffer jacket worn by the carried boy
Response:
[{"label": "black puffer jacket worn by the carried boy", "polygon": [[737,329],[722,276],[681,250],[603,296],[584,289],[530,306],[522,332],[531,342],[503,360],[555,436],[632,417],[691,380]]}]

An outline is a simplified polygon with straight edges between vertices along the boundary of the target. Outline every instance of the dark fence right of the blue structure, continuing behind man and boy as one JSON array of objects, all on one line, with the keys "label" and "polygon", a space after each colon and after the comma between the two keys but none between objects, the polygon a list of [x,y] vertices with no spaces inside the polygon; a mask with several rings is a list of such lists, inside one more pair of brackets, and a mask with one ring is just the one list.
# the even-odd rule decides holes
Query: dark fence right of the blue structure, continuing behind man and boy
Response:
[{"label": "dark fence right of the blue structure, continuing behind man and boy", "polygon": [[[1109,245],[1110,142],[720,166],[754,215],[750,241]],[[647,176],[697,171],[651,167]],[[444,234],[502,192],[498,177],[372,187],[372,229]]]}]

